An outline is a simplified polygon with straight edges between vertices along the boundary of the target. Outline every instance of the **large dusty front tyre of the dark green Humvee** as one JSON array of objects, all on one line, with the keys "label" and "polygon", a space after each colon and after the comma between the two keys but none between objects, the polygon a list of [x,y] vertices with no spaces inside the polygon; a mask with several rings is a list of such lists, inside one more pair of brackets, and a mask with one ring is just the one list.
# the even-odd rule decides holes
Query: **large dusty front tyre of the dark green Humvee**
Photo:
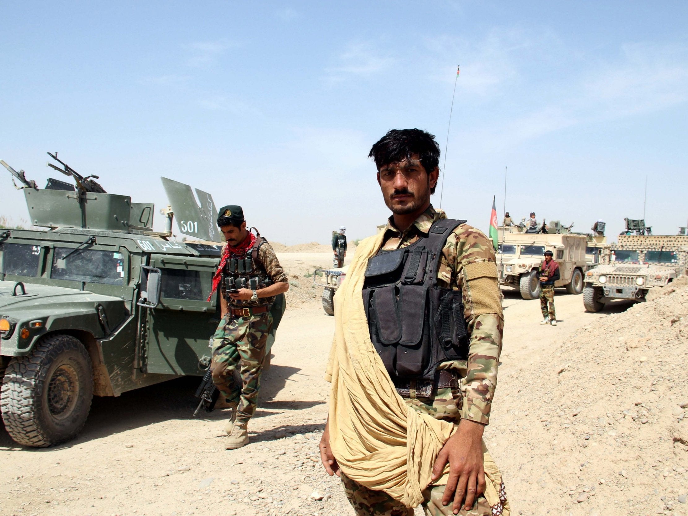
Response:
[{"label": "large dusty front tyre of the dark green Humvee", "polygon": [[0,408],[10,437],[24,446],[49,447],[83,428],[93,398],[91,358],[69,335],[39,341],[29,356],[10,360]]}]

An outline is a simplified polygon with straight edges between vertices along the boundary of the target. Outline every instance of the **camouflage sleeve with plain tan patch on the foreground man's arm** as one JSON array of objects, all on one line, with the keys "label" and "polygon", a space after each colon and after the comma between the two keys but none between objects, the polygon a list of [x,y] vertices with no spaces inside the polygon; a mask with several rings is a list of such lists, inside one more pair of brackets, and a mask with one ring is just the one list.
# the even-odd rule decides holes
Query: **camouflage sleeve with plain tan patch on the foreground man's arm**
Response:
[{"label": "camouflage sleeve with plain tan patch on the foreground man's arm", "polygon": [[461,417],[488,424],[504,332],[495,252],[482,231],[463,224],[447,239],[443,253],[453,264],[452,286],[462,291],[470,335]]}]

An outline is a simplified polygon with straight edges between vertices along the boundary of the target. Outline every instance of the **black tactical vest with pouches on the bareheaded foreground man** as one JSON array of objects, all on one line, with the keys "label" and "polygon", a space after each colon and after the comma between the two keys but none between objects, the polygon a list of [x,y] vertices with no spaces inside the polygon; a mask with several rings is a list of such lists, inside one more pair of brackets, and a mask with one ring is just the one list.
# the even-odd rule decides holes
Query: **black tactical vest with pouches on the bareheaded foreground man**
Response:
[{"label": "black tactical vest with pouches on the bareheaded foreground man", "polygon": [[465,220],[440,219],[427,237],[368,260],[363,305],[389,376],[433,380],[439,363],[468,358],[462,292],[437,284],[442,248]]}]

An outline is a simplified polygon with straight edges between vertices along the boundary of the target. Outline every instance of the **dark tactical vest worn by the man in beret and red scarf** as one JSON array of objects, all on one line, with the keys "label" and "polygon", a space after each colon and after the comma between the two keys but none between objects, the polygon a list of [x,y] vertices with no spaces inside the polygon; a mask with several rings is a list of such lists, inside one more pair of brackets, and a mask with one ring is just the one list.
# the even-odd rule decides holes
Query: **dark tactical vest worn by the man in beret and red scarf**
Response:
[{"label": "dark tactical vest worn by the man in beret and red scarf", "polygon": [[[258,250],[264,241],[266,240],[258,233],[255,244],[253,244],[252,248],[246,250],[243,256],[227,259],[224,264],[224,269],[222,270],[222,281],[224,281],[225,293],[232,289],[239,290],[239,288],[250,288],[250,290],[258,290],[259,288],[265,288],[272,285],[272,278],[270,278],[258,257]],[[232,306],[271,305],[272,301],[275,301],[275,297],[259,297],[258,301],[237,303],[237,301],[231,299],[228,295],[225,295],[225,299],[227,299],[227,302]]]}]

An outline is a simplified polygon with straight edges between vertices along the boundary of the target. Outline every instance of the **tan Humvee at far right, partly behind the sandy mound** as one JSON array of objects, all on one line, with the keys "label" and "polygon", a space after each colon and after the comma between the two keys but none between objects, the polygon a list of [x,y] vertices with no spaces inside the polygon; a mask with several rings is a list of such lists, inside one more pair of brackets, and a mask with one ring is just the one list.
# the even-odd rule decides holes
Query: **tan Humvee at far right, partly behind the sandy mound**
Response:
[{"label": "tan Humvee at far right, partly behind the sandy mound", "polygon": [[619,235],[608,265],[585,273],[583,305],[599,312],[612,299],[645,301],[652,287],[688,274],[688,236]]}]

